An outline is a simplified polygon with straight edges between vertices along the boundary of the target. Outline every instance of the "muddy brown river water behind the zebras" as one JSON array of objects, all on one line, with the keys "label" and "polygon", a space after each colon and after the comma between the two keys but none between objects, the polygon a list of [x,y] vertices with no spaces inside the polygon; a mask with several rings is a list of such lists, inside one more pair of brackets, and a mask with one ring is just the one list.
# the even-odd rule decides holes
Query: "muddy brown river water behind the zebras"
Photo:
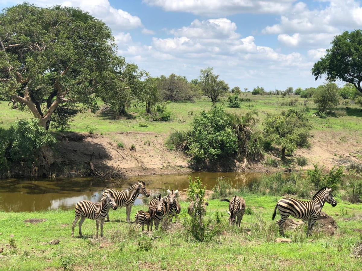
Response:
[{"label": "muddy brown river water behind the zebras", "polygon": [[[212,189],[218,177],[226,177],[233,185],[247,184],[260,177],[260,173],[211,173],[168,174],[133,176],[127,180],[99,181],[92,178],[61,179],[7,179],[0,180],[0,210],[5,212],[73,209],[78,201],[87,199],[98,202],[106,188],[124,190],[138,180],[146,182],[147,189],[188,188],[188,176],[200,177],[206,189]],[[142,197],[135,205],[142,203]]]}]

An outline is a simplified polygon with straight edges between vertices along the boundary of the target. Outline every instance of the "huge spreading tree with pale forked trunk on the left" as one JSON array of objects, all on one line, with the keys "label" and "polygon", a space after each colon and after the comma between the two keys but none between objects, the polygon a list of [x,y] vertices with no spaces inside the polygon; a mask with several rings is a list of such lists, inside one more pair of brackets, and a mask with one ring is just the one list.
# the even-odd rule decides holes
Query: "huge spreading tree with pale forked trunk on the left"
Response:
[{"label": "huge spreading tree with pale forked trunk on the left", "polygon": [[95,112],[97,96],[114,88],[111,30],[80,9],[24,3],[0,13],[0,95],[30,109],[49,128],[61,104]]}]

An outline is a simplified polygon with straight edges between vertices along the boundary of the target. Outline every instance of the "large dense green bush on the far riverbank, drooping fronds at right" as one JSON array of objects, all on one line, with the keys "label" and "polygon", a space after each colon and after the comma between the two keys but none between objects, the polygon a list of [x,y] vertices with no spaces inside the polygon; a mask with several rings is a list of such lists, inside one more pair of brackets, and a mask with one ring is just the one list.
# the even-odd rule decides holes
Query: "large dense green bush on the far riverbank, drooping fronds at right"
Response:
[{"label": "large dense green bush on the far riverbank, drooping fronds at right", "polygon": [[230,163],[235,160],[260,160],[262,137],[251,129],[256,124],[254,114],[240,116],[213,106],[210,111],[196,115],[186,151],[191,156],[191,165],[196,169],[226,166],[230,170]]}]

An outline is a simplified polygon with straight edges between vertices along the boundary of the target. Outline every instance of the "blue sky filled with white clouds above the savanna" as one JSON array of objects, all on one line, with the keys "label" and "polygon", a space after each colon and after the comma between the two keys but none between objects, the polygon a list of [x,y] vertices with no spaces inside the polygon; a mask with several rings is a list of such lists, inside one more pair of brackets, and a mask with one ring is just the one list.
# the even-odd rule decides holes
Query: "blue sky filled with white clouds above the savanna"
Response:
[{"label": "blue sky filled with white clouds above the savanna", "polygon": [[[0,0],[0,8],[22,1]],[[309,87],[335,35],[362,27],[357,0],[66,0],[111,27],[119,55],[152,76],[213,67],[230,87]]]}]

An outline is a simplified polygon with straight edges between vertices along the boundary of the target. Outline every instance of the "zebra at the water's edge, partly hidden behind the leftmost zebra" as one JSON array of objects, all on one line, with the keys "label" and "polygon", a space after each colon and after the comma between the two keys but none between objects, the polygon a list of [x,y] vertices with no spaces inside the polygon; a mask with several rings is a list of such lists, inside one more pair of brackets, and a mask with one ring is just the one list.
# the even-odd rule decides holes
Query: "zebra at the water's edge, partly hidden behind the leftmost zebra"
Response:
[{"label": "zebra at the water's edge, partly hidden behind the leftmost zebra", "polygon": [[[114,198],[115,202],[117,203],[117,207],[126,206],[126,214],[127,214],[127,222],[134,223],[130,219],[131,209],[132,206],[138,197],[139,194],[146,196],[147,198],[150,197],[150,193],[146,190],[146,184],[143,181],[138,181],[131,185],[130,188],[124,191],[119,191],[115,189],[106,189],[102,193],[101,201],[104,199],[105,193],[110,193]],[[109,208],[107,211],[107,220],[109,221]]]}]

